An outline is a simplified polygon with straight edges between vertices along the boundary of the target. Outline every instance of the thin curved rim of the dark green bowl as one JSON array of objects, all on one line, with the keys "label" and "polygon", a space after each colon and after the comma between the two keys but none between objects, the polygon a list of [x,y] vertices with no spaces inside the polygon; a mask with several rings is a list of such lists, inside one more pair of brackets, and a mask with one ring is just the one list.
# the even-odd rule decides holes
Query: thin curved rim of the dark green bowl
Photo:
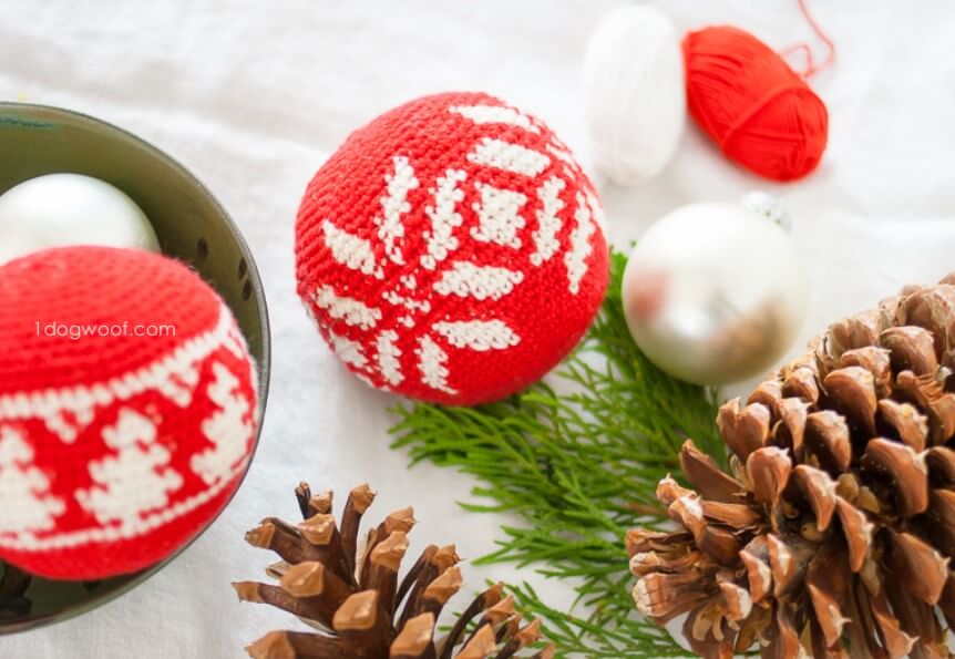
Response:
[{"label": "thin curved rim of the dark green bowl", "polygon": [[[161,150],[160,147],[155,146],[151,142],[121,126],[117,126],[105,120],[97,119],[93,115],[57,105],[0,101],[0,116],[11,111],[24,112],[24,114],[35,112],[52,115],[52,119],[54,120],[59,116],[74,124],[88,124],[94,128],[99,128],[100,131],[105,130],[107,133],[112,134],[115,137],[122,137],[136,144],[137,146],[145,150],[152,157],[163,161],[166,165],[172,167],[184,181],[195,186],[195,188],[198,189],[203,196],[208,198],[213,207],[218,213],[219,217],[224,220],[229,233],[236,239],[236,244],[238,245],[239,251],[242,253],[242,256],[245,258],[245,261],[247,264],[248,280],[251,284],[253,295],[256,297],[256,302],[258,303],[258,322],[261,328],[261,357],[260,359],[256,360],[255,363],[255,369],[258,375],[258,401],[256,411],[256,414],[258,416],[258,426],[256,428],[255,440],[253,442],[251,452],[249,453],[248,465],[239,476],[238,483],[236,484],[235,490],[233,490],[233,493],[229,495],[225,505],[222,506],[222,508],[202,527],[202,529],[193,538],[191,538],[187,543],[183,544],[170,556],[167,556],[156,565],[147,567],[138,573],[111,577],[111,579],[116,578],[125,580],[116,585],[109,591],[100,596],[94,595],[89,600],[81,601],[74,606],[71,606],[71,608],[45,614],[35,618],[21,619],[6,624],[0,622],[0,637],[6,635],[30,631],[40,627],[62,622],[64,620],[69,620],[88,614],[93,609],[96,609],[110,601],[113,601],[147,581],[150,578],[152,578],[154,575],[156,575],[167,565],[170,565],[173,560],[175,560],[178,556],[181,556],[183,552],[185,552],[189,546],[192,546],[193,543],[195,543],[199,537],[202,537],[209,529],[209,527],[212,527],[212,525],[216,523],[216,521],[225,512],[225,509],[232,504],[236,494],[238,494],[238,491],[242,488],[243,483],[248,475],[248,472],[251,470],[253,463],[255,462],[255,455],[258,451],[258,446],[261,440],[261,429],[265,423],[265,412],[267,406],[266,403],[268,401],[269,378],[271,371],[271,328],[269,326],[268,318],[268,302],[265,294],[265,286],[263,285],[261,276],[259,274],[255,256],[249,249],[245,236],[243,236],[235,220],[232,218],[232,215],[229,215],[225,206],[223,206],[218,198],[196,175],[193,174],[193,172],[188,167],[183,165],[178,159],[176,159],[165,151]],[[29,121],[30,119],[32,117],[24,117],[24,120],[27,121]]]}]

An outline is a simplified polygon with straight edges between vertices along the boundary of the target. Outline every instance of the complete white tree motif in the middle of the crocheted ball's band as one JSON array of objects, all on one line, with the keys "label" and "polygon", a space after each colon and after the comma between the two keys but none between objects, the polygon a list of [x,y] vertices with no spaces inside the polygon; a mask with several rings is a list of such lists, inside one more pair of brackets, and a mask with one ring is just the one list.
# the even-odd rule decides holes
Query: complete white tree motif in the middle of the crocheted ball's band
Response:
[{"label": "complete white tree motif in the middle of the crocheted ball's band", "polygon": [[168,505],[170,494],[182,487],[183,477],[168,466],[172,454],[156,442],[158,431],[148,416],[122,408],[102,436],[115,455],[90,463],[95,485],[78,490],[76,501],[100,524],[119,522],[124,529],[135,529],[144,513]]}]

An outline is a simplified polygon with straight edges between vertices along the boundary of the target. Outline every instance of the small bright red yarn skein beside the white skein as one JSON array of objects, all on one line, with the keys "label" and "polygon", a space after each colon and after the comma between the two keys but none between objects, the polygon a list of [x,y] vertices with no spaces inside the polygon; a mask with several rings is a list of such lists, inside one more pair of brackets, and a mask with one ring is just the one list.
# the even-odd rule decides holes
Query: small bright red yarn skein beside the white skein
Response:
[{"label": "small bright red yarn skein beside the white skein", "polygon": [[822,100],[759,39],[720,25],[684,39],[690,115],[726,156],[776,181],[812,172],[829,117]]}]

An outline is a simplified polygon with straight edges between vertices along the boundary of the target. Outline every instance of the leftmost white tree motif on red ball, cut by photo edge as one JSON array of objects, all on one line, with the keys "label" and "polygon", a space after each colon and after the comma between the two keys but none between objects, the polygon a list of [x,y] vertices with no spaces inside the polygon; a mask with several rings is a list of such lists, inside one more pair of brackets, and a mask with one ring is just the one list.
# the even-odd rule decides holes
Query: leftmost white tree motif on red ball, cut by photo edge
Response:
[{"label": "leftmost white tree motif on red ball, cut by photo edge", "polygon": [[65,509],[33,457],[20,432],[0,426],[0,535],[50,531]]}]

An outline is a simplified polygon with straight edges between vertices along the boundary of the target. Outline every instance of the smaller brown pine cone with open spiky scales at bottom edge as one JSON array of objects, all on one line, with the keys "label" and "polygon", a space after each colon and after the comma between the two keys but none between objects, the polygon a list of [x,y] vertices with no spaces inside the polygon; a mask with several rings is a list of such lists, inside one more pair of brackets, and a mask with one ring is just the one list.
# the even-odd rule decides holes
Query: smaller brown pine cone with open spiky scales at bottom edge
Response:
[{"label": "smaller brown pine cone with open spiky scales at bottom edge", "polygon": [[[318,631],[273,631],[246,648],[251,657],[509,659],[538,641],[538,622],[521,627],[514,599],[504,597],[502,584],[479,595],[451,631],[435,638],[442,608],[462,586],[454,546],[425,547],[399,583],[414,525],[411,508],[392,513],[369,531],[359,559],[359,523],[374,498],[368,485],[351,491],[339,526],[331,515],[331,492],[312,496],[301,483],[296,496],[304,522],[292,525],[269,517],[246,534],[253,546],[281,557],[266,570],[279,585],[239,581],[233,587],[239,599],[289,611]],[[530,657],[550,659],[553,653],[548,647]]]}]

